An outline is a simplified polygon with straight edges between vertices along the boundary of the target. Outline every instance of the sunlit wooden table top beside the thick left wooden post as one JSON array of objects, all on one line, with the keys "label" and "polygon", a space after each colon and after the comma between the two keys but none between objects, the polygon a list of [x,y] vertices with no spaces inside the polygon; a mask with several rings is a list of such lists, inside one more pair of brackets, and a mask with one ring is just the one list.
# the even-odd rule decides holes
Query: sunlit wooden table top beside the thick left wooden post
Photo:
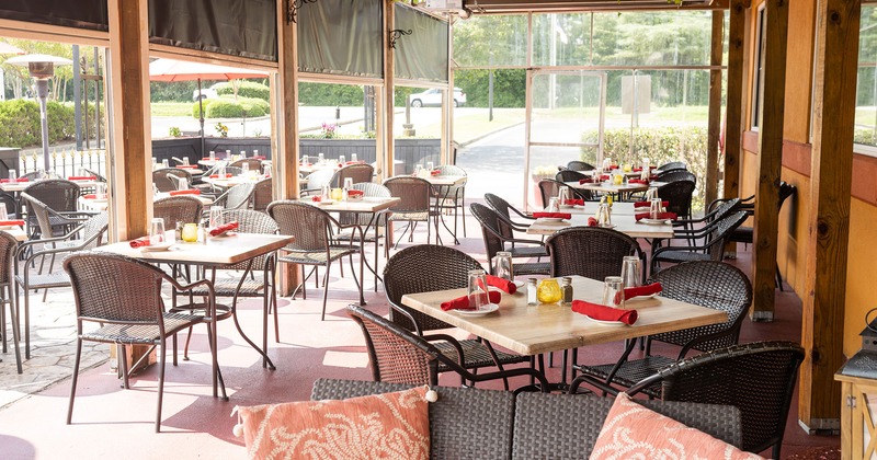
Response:
[{"label": "sunlit wooden table top beside the thick left wooden post", "polygon": [[[168,232],[169,237],[173,231]],[[168,251],[143,251],[127,241],[98,246],[95,251],[111,252],[148,262],[230,265],[276,251],[295,241],[283,234],[236,233],[228,237],[207,238],[207,243],[176,243]]]}]

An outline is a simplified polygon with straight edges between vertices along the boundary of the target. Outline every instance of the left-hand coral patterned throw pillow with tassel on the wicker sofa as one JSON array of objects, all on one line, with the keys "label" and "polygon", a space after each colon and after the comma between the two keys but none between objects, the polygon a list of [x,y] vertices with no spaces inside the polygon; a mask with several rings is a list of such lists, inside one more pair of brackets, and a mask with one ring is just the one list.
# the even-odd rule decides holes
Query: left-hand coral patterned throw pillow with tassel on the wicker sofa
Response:
[{"label": "left-hand coral patterned throw pillow with tassel on the wicker sofa", "polygon": [[237,407],[252,459],[429,459],[426,388]]}]

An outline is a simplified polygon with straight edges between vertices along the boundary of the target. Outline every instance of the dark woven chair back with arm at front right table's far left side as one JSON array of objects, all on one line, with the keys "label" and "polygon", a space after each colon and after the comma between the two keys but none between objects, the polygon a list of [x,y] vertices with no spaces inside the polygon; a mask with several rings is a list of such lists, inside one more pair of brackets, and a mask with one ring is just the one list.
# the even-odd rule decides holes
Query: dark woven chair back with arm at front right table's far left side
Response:
[{"label": "dark woven chair back with arm at front right table's far left side", "polygon": [[465,288],[469,284],[470,269],[483,267],[471,256],[453,248],[420,244],[397,252],[384,268],[384,291],[394,307],[390,309],[390,321],[407,331],[415,330],[405,313],[396,311],[398,308],[410,313],[421,331],[449,327],[444,321],[402,306],[402,296]]}]

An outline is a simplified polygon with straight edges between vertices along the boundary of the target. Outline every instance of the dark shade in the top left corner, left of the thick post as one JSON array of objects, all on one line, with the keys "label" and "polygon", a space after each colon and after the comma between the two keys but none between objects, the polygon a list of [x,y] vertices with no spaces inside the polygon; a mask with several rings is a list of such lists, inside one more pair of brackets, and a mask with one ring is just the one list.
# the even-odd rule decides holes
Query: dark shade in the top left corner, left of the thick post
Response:
[{"label": "dark shade in the top left corner, left of the thick post", "polygon": [[92,31],[110,30],[106,0],[2,0],[0,18]]}]

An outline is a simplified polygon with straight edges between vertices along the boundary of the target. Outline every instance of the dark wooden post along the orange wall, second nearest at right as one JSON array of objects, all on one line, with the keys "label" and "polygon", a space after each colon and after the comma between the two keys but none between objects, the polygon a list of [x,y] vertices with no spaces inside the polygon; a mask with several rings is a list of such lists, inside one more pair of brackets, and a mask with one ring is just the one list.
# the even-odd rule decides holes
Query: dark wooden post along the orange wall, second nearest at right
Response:
[{"label": "dark wooden post along the orange wall, second nearest at right", "polygon": [[779,228],[779,172],[783,163],[783,122],[786,99],[788,0],[767,0],[764,14],[764,100],[755,191],[753,265],[754,321],[774,319],[776,234]]}]

